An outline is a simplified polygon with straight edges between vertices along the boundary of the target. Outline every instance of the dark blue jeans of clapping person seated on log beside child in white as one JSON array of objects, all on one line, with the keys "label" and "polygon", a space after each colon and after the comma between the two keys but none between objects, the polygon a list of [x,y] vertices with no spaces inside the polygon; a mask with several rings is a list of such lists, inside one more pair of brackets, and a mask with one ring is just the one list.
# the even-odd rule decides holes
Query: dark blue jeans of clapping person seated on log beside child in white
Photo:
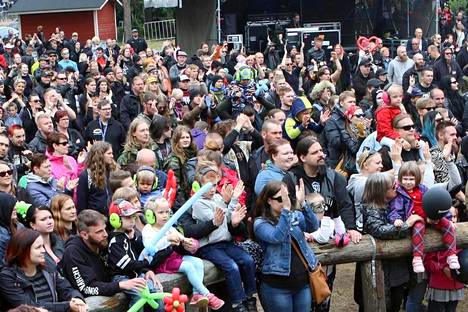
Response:
[{"label": "dark blue jeans of clapping person seated on log beside child in white", "polygon": [[233,242],[220,242],[203,246],[197,254],[223,271],[233,304],[241,303],[256,293],[255,263],[241,247]]}]

